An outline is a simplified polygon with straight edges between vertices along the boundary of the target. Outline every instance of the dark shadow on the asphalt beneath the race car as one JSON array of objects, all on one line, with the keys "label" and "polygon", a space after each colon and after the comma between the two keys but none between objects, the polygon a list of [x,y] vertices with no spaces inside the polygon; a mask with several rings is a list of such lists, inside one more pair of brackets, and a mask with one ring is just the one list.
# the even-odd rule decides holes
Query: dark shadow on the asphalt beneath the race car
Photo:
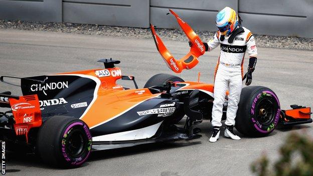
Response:
[{"label": "dark shadow on the asphalt beneath the race car", "polygon": [[[224,126],[224,125],[223,125]],[[204,124],[200,124],[199,126],[202,129],[202,137],[211,137],[211,124],[209,121],[204,122]],[[288,132],[288,131],[295,131],[295,130],[301,130],[310,128],[311,126],[301,124],[301,125],[294,125],[294,126],[277,126],[277,128],[269,135],[275,135],[278,131],[281,132]],[[237,134],[239,134],[242,138],[253,138],[253,137],[246,137],[242,136],[238,131],[235,130]],[[224,128],[221,130],[221,135],[224,134]],[[266,136],[265,136],[266,137]],[[197,140],[197,139],[194,139]],[[145,152],[153,152],[158,150],[166,150],[166,149],[172,149],[172,148],[179,148],[179,147],[186,147],[190,145],[197,145],[201,144],[201,141],[177,141],[177,142],[158,142],[158,143],[148,143],[148,144],[141,144],[131,147],[125,147],[125,148],[117,148],[117,149],[109,149],[109,150],[101,150],[101,151],[93,151],[88,159],[88,161],[97,161],[97,160],[104,160],[108,158],[115,158],[115,157],[121,157],[121,156],[127,156],[127,155],[134,155],[134,154],[140,154]],[[57,169],[60,170],[62,168],[56,168],[48,166],[47,164],[43,163],[40,158],[35,154],[25,154],[25,153],[17,153],[17,152],[8,152],[7,155],[7,172],[11,173],[19,173],[20,169],[16,166],[26,166],[26,167],[37,167],[37,168],[48,168],[48,169]],[[82,165],[82,167],[89,165],[88,161]],[[10,169],[14,168],[14,169]]]}]

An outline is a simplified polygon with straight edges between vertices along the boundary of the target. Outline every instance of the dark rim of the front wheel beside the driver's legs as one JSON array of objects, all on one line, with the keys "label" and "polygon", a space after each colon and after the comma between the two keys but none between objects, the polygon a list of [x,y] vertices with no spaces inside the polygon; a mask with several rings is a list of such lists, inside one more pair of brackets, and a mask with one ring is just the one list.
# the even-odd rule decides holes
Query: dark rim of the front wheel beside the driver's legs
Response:
[{"label": "dark rim of the front wheel beside the driver's legs", "polygon": [[261,125],[268,125],[275,118],[274,104],[268,98],[262,99],[256,105],[257,116],[256,119]]}]

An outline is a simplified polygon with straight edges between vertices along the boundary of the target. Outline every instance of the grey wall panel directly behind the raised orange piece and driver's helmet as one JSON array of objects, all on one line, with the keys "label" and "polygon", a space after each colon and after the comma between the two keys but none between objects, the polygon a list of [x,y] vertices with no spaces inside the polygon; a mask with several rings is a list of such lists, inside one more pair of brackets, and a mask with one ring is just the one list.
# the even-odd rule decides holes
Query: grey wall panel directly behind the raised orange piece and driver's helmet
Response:
[{"label": "grey wall panel directly behind the raised orange piece and driver's helmet", "polygon": [[238,10],[237,0],[151,0],[150,22],[157,28],[179,29],[173,15],[166,15],[169,9],[174,10],[193,29],[217,31],[216,14],[226,6]]}]

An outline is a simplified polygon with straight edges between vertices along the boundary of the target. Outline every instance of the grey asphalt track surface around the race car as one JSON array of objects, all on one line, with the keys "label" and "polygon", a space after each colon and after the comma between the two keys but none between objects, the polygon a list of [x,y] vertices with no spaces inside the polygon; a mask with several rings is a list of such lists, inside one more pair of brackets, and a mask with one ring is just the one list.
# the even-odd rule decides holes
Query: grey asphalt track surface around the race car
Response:
[{"label": "grey asphalt track surface around the race car", "polygon": [[[165,44],[176,58],[189,50],[186,42],[165,41]],[[212,83],[219,50],[201,56],[195,68],[179,76],[196,81],[201,72],[201,81]],[[271,88],[282,109],[290,104],[313,105],[313,52],[258,48],[258,53],[252,85]],[[0,30],[1,75],[26,77],[102,68],[96,61],[110,57],[121,61],[118,66],[123,75],[135,76],[139,87],[154,74],[172,74],[152,38]],[[245,58],[245,68],[247,63]],[[130,82],[119,83],[132,86]],[[21,95],[19,87],[0,83],[0,91],[8,90]],[[7,175],[252,175],[251,162],[262,154],[267,154],[272,162],[276,160],[288,133],[313,134],[313,124],[303,124],[278,128],[262,138],[242,136],[240,141],[221,135],[218,142],[210,143],[211,123],[206,120],[199,127],[203,135],[199,139],[97,151],[75,169],[51,168],[34,155],[7,153]]]}]

